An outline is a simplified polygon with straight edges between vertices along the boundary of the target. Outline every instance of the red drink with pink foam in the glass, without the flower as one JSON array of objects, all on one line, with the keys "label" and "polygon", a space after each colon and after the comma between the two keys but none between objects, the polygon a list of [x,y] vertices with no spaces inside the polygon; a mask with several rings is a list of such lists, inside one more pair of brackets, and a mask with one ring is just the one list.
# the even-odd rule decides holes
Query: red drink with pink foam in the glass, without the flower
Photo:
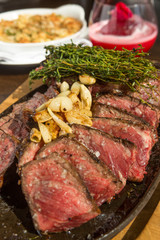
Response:
[{"label": "red drink with pink foam in the glass, without the flower", "polygon": [[101,24],[104,22],[95,23],[89,28],[89,38],[93,45],[102,46],[103,48],[113,49],[116,47],[117,50],[126,48],[132,50],[133,48],[139,47],[141,44],[144,47],[143,51],[147,52],[154,44],[158,29],[155,24],[147,21],[143,22],[143,29],[128,35],[128,36],[117,36],[112,34],[101,34],[99,31]]}]

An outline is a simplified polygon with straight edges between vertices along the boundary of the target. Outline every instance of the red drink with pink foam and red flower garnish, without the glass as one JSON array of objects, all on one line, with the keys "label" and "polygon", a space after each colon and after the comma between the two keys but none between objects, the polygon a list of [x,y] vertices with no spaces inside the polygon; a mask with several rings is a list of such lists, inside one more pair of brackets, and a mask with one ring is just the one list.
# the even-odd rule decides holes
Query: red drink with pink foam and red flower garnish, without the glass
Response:
[{"label": "red drink with pink foam and red flower garnish, without the glass", "polygon": [[111,11],[111,18],[95,22],[89,26],[89,38],[93,45],[117,50],[142,45],[147,52],[154,44],[158,34],[157,25],[143,20],[122,2]]}]

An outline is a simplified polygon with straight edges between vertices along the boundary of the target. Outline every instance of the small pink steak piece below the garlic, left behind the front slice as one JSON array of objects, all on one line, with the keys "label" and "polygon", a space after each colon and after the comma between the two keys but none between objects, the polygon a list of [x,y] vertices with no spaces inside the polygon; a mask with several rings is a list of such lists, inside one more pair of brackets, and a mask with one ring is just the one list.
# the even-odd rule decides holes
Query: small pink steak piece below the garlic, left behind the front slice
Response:
[{"label": "small pink steak piece below the garlic, left behind the front slice", "polygon": [[44,143],[38,142],[30,142],[22,151],[23,153],[21,154],[19,160],[18,160],[18,167],[22,167],[24,164],[31,162],[35,159],[35,156],[37,152],[40,150],[40,148],[44,145]]}]

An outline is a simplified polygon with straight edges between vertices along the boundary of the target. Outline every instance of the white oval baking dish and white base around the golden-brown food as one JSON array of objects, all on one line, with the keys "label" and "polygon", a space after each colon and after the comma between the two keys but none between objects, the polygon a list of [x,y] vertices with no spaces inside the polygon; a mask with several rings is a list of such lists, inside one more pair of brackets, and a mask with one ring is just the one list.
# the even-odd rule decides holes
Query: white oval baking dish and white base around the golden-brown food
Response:
[{"label": "white oval baking dish and white base around the golden-brown food", "polygon": [[[6,57],[7,62],[12,64],[13,57],[15,59],[14,64],[36,64],[40,62],[45,57],[44,47],[47,45],[59,45],[66,42],[71,42],[71,40],[76,40],[80,38],[85,38],[87,36],[87,23],[85,20],[84,9],[77,4],[67,4],[59,8],[30,8],[8,11],[0,14],[0,20],[13,20],[18,18],[19,15],[29,14],[29,15],[45,15],[51,13],[60,14],[63,16],[70,16],[77,18],[82,22],[82,28],[77,33],[70,35],[68,37],[47,41],[43,43],[7,43],[0,41],[0,57]],[[3,63],[4,64],[4,63]]]}]

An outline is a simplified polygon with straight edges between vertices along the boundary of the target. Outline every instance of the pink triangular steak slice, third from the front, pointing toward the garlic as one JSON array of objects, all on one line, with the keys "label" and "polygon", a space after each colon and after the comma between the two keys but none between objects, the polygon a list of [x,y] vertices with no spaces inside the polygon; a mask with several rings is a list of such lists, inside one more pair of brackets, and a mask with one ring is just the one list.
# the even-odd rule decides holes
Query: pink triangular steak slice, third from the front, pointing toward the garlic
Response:
[{"label": "pink triangular steak slice, third from the front, pointing toward the garlic", "polygon": [[130,166],[136,161],[134,144],[97,129],[72,124],[75,138],[94,153],[125,185]]}]

